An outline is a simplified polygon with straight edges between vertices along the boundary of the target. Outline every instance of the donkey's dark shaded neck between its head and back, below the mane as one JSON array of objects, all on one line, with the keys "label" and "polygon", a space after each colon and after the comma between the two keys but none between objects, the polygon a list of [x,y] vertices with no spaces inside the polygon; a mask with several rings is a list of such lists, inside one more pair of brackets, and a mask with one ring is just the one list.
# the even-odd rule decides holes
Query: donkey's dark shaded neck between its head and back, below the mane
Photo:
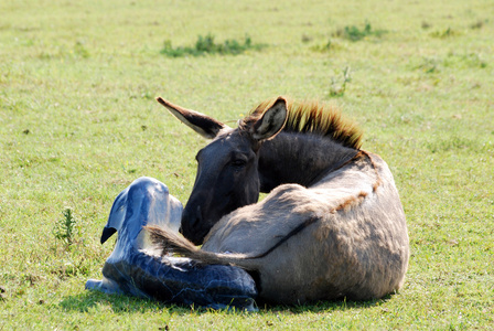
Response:
[{"label": "donkey's dark shaded neck between its head and back, below the mane", "polygon": [[260,191],[296,183],[310,186],[351,160],[358,150],[313,134],[280,132],[259,150]]}]

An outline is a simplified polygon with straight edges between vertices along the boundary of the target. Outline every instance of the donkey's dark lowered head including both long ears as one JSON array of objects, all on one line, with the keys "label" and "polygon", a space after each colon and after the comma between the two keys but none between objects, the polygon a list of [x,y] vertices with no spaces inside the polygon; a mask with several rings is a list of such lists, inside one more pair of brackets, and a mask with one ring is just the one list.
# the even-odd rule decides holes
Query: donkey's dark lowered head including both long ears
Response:
[{"label": "donkey's dark lowered head including both long ears", "polygon": [[256,203],[259,197],[258,151],[264,140],[275,137],[284,126],[287,102],[279,97],[259,118],[247,118],[238,128],[201,113],[157,99],[176,118],[207,139],[196,154],[197,174],[182,214],[181,233],[202,244],[222,216]]}]

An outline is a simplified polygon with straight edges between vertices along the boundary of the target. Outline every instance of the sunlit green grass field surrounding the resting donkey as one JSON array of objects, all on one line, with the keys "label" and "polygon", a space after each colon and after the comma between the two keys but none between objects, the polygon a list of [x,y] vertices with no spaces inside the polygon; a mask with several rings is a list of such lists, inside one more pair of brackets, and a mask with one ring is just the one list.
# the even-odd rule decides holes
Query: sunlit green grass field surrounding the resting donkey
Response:
[{"label": "sunlit green grass field surrounding the resting donkey", "polygon": [[[0,330],[494,329],[492,0],[6,0],[0,12]],[[187,53],[207,35],[251,46]],[[192,190],[205,141],[159,95],[230,125],[277,95],[340,106],[395,174],[405,287],[256,313],[85,291],[121,190],[141,175],[183,203]]]}]

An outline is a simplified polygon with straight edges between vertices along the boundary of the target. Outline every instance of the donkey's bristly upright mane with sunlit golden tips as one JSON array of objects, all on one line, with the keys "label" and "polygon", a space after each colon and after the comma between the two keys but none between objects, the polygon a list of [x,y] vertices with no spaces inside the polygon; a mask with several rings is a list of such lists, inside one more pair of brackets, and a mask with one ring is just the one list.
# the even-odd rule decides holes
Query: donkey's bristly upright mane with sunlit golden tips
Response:
[{"label": "donkey's bristly upright mane with sunlit golden tips", "polygon": [[[240,121],[240,129],[250,127],[276,100],[277,98],[270,98],[260,103]],[[363,136],[361,128],[354,121],[343,117],[336,107],[319,102],[299,103],[289,98],[286,100],[288,118],[283,128],[284,132],[314,134],[331,138],[345,147],[361,148]]]}]

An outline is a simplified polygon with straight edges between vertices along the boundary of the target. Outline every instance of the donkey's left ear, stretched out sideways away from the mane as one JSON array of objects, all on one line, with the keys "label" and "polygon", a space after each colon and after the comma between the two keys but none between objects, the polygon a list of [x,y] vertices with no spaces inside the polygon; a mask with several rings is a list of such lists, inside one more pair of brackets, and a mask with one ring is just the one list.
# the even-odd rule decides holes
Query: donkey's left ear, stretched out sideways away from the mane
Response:
[{"label": "donkey's left ear, stretched out sideways away from the mane", "polygon": [[215,138],[221,129],[226,128],[226,126],[221,121],[217,121],[216,119],[204,114],[173,105],[162,97],[158,97],[157,100],[167,107],[167,109],[170,110],[170,113],[180,119],[184,125],[192,128],[206,139]]}]

